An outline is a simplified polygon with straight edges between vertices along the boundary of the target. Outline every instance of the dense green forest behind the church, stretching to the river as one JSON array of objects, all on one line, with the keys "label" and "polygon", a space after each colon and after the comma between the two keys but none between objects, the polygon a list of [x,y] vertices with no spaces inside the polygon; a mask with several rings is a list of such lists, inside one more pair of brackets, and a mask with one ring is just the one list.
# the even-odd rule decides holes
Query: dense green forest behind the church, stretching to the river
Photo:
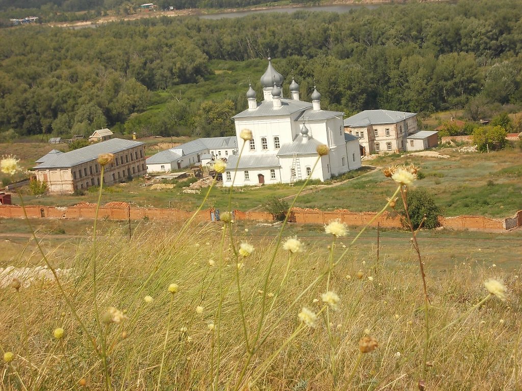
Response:
[{"label": "dense green forest behind the church, stretching to the river", "polygon": [[[215,91],[197,100],[176,98],[176,91],[212,80],[217,60],[257,59],[259,68],[268,54],[286,76],[287,96],[293,72],[304,98],[315,79],[323,108],[346,113],[466,108],[477,119],[492,105],[522,103],[522,0],[149,18],[81,30],[25,26],[0,30],[0,40],[3,139],[103,126],[131,131],[143,112],[161,123],[150,132],[221,135],[232,129],[230,115],[245,107],[243,92],[211,102],[205,95]],[[260,74],[250,76],[259,88]],[[247,77],[242,83],[246,92]]]}]

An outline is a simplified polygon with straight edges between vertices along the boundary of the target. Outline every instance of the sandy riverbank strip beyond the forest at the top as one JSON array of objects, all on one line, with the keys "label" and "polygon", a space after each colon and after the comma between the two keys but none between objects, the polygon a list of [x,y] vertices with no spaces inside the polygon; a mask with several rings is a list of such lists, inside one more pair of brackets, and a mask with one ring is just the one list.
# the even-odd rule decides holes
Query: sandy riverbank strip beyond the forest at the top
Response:
[{"label": "sandy riverbank strip beyond the forest at the top", "polygon": [[[435,2],[435,1],[450,1],[450,0],[424,0],[424,2]],[[402,0],[403,3],[407,3],[407,0]],[[389,3],[397,3],[395,0],[333,0],[331,2],[327,2],[321,4],[321,6],[325,5],[361,5],[361,4],[389,4]],[[302,7],[302,4],[296,4],[292,6],[274,6],[270,7],[270,9],[274,8],[291,8],[291,7]],[[250,8],[228,8],[219,10],[219,13],[233,13],[238,11],[255,11],[268,9],[268,7],[250,7]],[[213,10],[216,13],[216,10]],[[138,12],[133,15],[126,16],[103,16],[93,20],[87,21],[78,21],[78,22],[51,22],[47,23],[48,26],[51,27],[86,27],[91,25],[103,25],[104,23],[110,23],[115,21],[122,20],[136,20],[142,18],[159,18],[161,16],[188,16],[188,15],[206,15],[209,14],[207,9],[200,8],[192,8],[192,9],[175,9],[172,11],[156,11],[156,12]]]}]

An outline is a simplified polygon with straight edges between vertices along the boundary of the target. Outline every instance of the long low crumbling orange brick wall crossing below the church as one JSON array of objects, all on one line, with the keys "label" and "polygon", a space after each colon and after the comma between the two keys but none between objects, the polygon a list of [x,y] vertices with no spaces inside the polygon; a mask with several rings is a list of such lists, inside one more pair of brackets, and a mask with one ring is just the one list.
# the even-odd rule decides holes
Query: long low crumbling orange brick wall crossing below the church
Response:
[{"label": "long low crumbling orange brick wall crossing below the church", "polygon": [[[28,217],[37,218],[94,218],[96,207],[94,206],[26,206]],[[177,209],[160,208],[136,208],[136,207],[100,207],[98,217],[110,218],[113,220],[133,220],[169,219],[174,221],[185,221],[192,216],[193,212],[186,212]],[[242,212],[234,211],[237,220],[264,220],[273,221],[268,212]],[[375,212],[322,212],[322,211],[293,211],[290,217],[291,222],[309,224],[327,224],[330,220],[339,219],[341,222],[350,226],[363,226],[371,222],[377,215]],[[23,209],[19,205],[0,205],[0,217],[24,217]],[[196,221],[211,221],[212,210],[203,210],[196,216]],[[494,229],[506,230],[522,226],[522,211],[507,218],[489,218],[484,216],[457,216],[441,217],[441,225],[453,229]],[[371,222],[371,226],[388,228],[401,228],[400,217],[384,213]]]}]

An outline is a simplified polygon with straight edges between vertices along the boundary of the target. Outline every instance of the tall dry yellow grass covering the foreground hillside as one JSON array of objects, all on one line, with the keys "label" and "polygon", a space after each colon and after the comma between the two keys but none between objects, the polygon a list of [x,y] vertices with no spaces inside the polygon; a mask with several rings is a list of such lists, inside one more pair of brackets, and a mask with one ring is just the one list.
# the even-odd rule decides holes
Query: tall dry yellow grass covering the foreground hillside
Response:
[{"label": "tall dry yellow grass covering the foreground hillside", "polygon": [[[262,336],[267,337],[266,343],[246,366],[247,380],[237,384],[247,354],[235,285],[236,260],[229,241],[224,241],[223,288],[220,290],[217,239],[222,233],[220,227],[194,226],[172,242],[172,233],[177,230],[177,226],[158,223],[149,225],[132,242],[120,230],[99,239],[98,306],[101,309],[114,306],[125,310],[128,316],[123,325],[108,326],[112,347],[109,368],[114,389],[155,389],[163,352],[165,362],[159,389],[211,389],[218,355],[215,334],[209,331],[208,324],[216,322],[221,292],[219,389],[235,386],[250,390],[333,389],[330,349],[335,352],[339,389],[417,388],[424,315],[421,280],[414,263],[389,268],[370,258],[354,258],[348,253],[335,268],[330,282],[331,289],[341,297],[340,310],[330,312],[333,340],[329,341],[325,317],[320,317],[315,328],[305,329],[281,349],[274,362],[265,365],[272,353],[300,327],[296,314],[301,307],[307,306],[316,312],[323,307],[321,294],[326,289],[323,278],[296,300],[302,290],[325,271],[328,263],[326,246],[309,245],[305,253],[293,255],[287,283],[277,295],[288,260],[288,255],[280,250],[267,289],[276,296],[267,298],[268,306],[273,300],[274,307],[267,315],[262,332]],[[234,230],[235,243],[245,239],[247,234],[242,227]],[[263,289],[274,242],[246,239],[256,247],[239,274],[245,324],[252,338],[262,300],[259,290]],[[69,258],[76,272],[63,284],[82,321],[97,335],[90,276],[91,246],[92,241],[85,240]],[[408,242],[405,248],[409,248]],[[210,266],[209,259],[215,260],[215,265]],[[160,269],[140,291],[158,262]],[[361,279],[355,277],[359,270],[364,273]],[[482,286],[487,277],[504,279],[509,287],[508,301],[488,300],[480,309],[466,313],[487,295]],[[181,289],[173,297],[169,323],[167,287],[171,283],[179,284]],[[522,289],[517,276],[491,268],[477,273],[469,266],[456,266],[443,278],[429,278],[428,286],[432,333],[466,315],[431,341],[428,359],[432,366],[425,378],[428,389],[514,389],[513,354],[520,328],[518,298]],[[1,348],[16,354],[15,360],[3,367],[1,389],[23,389],[24,386],[42,390],[105,389],[100,359],[54,282],[40,282],[20,290],[23,314],[13,288],[2,289],[0,295]],[[146,295],[154,301],[147,304],[143,300]],[[314,299],[319,301],[314,303]],[[195,312],[197,306],[204,307],[203,314]],[[278,323],[280,316],[282,320]],[[22,333],[24,321],[29,353],[25,352]],[[276,328],[269,334],[267,329],[271,325]],[[55,327],[65,329],[63,340],[53,338]],[[187,328],[187,334],[180,332],[182,327]],[[167,328],[170,331],[164,350]],[[379,341],[379,348],[364,355],[353,382],[347,384],[359,351],[358,341],[365,330]],[[123,332],[126,338],[122,337]],[[255,377],[258,377],[256,381]],[[85,388],[78,386],[82,378],[87,381]]]}]

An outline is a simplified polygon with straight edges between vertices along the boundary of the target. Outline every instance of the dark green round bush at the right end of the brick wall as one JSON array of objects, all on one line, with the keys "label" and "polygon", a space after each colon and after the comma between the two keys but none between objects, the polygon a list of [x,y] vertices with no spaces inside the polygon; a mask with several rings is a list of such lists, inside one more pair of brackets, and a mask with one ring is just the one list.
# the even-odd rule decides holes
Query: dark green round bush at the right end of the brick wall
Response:
[{"label": "dark green round bush at the right end of the brick wall", "polygon": [[[419,228],[421,224],[423,228],[428,229],[433,229],[440,225],[438,216],[442,214],[442,209],[435,204],[435,201],[425,189],[408,189],[406,203],[408,204],[408,213],[414,229]],[[398,202],[397,205],[401,205],[398,208],[399,212],[406,218],[402,202]],[[424,218],[425,221],[423,223]]]}]

